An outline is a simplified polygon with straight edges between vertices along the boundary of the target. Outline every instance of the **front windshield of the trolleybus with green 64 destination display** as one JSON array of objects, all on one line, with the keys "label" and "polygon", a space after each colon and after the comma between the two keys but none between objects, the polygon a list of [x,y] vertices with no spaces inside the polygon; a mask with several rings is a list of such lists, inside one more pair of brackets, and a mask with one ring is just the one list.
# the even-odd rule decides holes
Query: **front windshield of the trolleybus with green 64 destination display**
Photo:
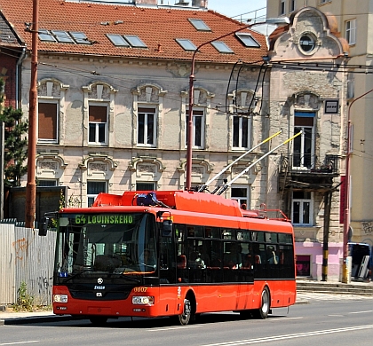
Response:
[{"label": "front windshield of the trolleybus with green 64 destination display", "polygon": [[153,215],[60,214],[58,232],[55,271],[60,283],[98,275],[140,282],[140,274],[156,271]]}]

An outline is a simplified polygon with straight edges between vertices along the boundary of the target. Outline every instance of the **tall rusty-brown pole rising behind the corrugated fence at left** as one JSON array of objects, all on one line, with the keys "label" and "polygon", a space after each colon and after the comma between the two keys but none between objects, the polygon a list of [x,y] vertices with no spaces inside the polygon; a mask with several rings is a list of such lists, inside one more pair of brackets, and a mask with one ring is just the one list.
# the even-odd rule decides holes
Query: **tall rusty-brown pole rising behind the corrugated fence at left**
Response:
[{"label": "tall rusty-brown pole rising behind the corrugated fence at left", "polygon": [[35,227],[36,217],[36,106],[37,106],[37,40],[39,0],[33,0],[31,85],[28,110],[28,185],[26,185],[26,227]]}]

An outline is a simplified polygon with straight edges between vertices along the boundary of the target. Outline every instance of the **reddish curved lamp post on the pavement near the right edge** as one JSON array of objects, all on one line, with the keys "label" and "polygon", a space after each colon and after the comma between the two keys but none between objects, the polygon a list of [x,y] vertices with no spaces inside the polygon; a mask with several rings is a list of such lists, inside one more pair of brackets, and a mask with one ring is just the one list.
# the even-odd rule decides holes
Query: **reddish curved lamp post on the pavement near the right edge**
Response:
[{"label": "reddish curved lamp post on the pavement near the right edge", "polygon": [[373,89],[363,93],[358,98],[353,98],[350,105],[348,106],[347,112],[347,147],[345,151],[345,210],[344,210],[344,224],[343,224],[343,272],[342,282],[348,283],[348,268],[347,268],[347,256],[348,256],[348,235],[350,230],[350,166],[351,166],[351,107],[360,98],[368,95]]}]

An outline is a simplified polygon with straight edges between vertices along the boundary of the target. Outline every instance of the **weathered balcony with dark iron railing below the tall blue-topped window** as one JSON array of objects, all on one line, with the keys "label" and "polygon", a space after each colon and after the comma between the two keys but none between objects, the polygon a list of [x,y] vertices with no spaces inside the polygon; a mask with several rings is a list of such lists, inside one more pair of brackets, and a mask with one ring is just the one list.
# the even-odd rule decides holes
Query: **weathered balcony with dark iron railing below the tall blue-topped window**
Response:
[{"label": "weathered balcony with dark iron railing below the tall blue-topped window", "polygon": [[306,189],[309,191],[329,190],[333,177],[339,175],[337,155],[327,154],[323,158],[309,153],[282,154],[279,167],[279,188]]}]

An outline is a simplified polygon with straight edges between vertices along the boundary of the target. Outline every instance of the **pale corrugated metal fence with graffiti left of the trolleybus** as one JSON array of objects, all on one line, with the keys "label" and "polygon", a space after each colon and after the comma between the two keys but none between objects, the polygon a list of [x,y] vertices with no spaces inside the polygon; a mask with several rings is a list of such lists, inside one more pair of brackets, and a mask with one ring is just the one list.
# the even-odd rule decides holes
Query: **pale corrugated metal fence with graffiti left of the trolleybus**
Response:
[{"label": "pale corrugated metal fence with graffiti left of the trolleybus", "polygon": [[0,224],[0,304],[17,303],[22,282],[34,303],[52,303],[52,272],[56,233]]}]

